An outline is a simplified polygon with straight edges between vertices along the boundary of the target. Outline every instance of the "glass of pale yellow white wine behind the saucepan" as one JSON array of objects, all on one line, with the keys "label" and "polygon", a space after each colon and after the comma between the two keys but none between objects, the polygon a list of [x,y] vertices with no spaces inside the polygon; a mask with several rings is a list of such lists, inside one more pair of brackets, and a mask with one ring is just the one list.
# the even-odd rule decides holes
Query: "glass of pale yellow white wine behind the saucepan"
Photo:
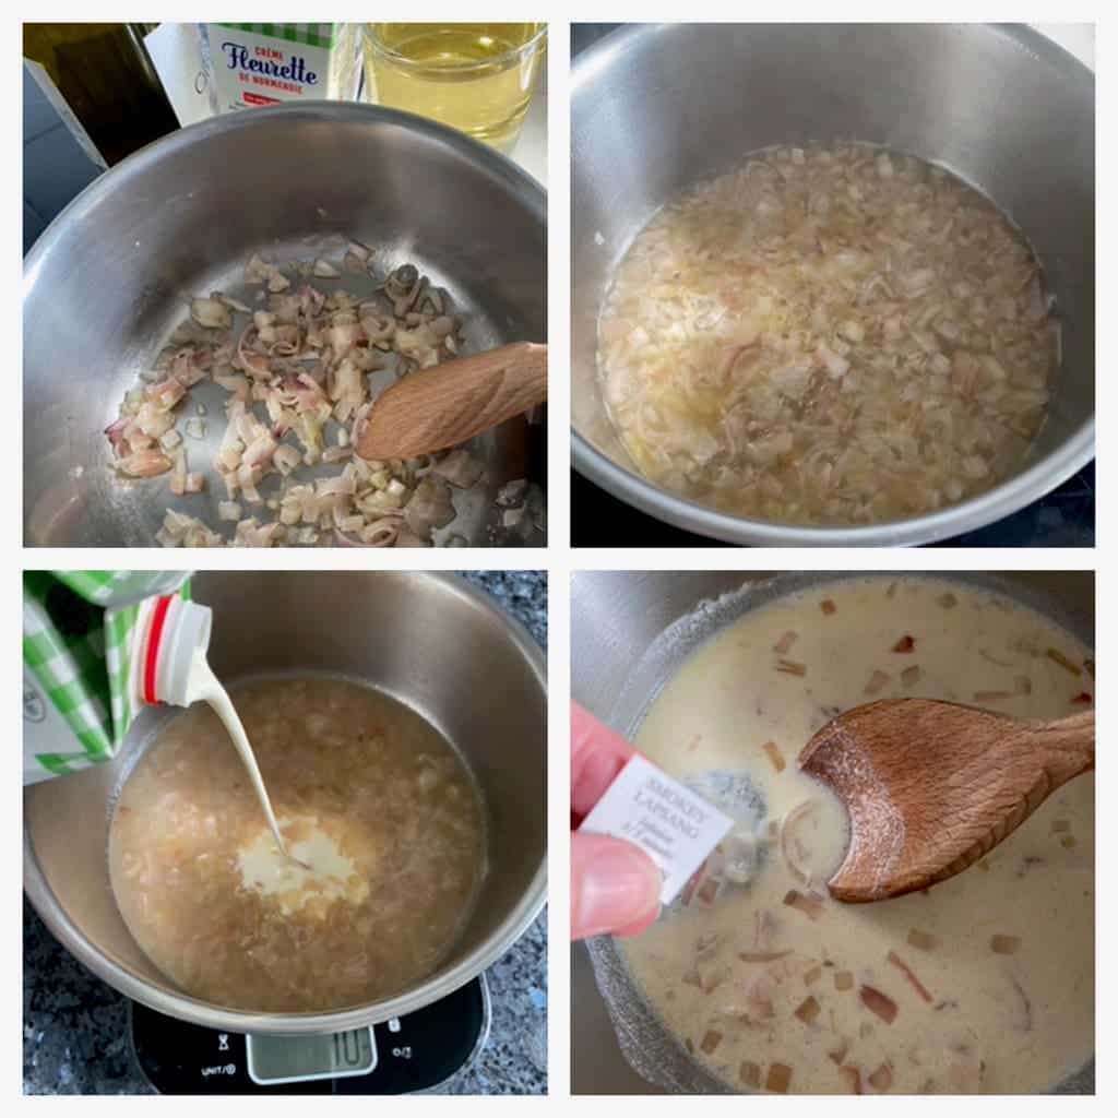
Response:
[{"label": "glass of pale yellow white wine behind the saucepan", "polygon": [[367,23],[369,96],[510,151],[536,92],[546,23]]}]

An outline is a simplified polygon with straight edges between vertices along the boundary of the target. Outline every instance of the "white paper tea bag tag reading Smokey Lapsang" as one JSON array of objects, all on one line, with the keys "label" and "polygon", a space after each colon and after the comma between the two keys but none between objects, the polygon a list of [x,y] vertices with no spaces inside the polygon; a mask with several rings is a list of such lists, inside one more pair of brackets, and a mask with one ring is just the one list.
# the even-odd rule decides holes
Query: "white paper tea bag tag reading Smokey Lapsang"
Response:
[{"label": "white paper tea bag tag reading Smokey Lapsang", "polygon": [[627,839],[660,866],[661,904],[670,904],[726,837],[733,819],[634,754],[579,831]]}]

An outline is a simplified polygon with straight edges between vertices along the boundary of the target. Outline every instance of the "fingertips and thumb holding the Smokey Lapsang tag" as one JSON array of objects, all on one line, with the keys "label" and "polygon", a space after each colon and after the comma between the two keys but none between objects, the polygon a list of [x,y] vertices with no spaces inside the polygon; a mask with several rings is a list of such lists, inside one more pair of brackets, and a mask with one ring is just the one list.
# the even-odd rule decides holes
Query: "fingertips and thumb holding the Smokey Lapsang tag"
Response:
[{"label": "fingertips and thumb holding the Smokey Lapsang tag", "polygon": [[635,750],[577,703],[570,711],[570,938],[635,936],[660,915],[663,877],[639,846],[576,828]]}]

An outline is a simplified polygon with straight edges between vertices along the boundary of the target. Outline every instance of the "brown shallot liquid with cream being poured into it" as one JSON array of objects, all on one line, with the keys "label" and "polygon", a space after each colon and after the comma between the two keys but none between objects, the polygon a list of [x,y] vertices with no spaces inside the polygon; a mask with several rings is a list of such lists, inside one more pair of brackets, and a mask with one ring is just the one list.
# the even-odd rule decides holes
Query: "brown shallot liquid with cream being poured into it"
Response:
[{"label": "brown shallot liquid with cream being poured into it", "polygon": [[188,993],[244,1010],[341,1008],[426,977],[484,872],[482,806],[458,756],[354,683],[231,694],[304,865],[280,854],[228,735],[196,705],[140,760],[113,816],[113,891],[136,942]]}]

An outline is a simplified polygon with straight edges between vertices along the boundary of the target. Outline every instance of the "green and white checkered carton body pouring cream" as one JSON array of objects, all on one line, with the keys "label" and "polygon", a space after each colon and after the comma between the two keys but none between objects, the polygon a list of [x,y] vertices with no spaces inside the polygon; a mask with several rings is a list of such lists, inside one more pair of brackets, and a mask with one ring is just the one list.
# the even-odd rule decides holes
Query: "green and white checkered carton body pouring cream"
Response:
[{"label": "green and white checkered carton body pouring cream", "polygon": [[116,756],[136,714],[140,605],[190,597],[189,571],[23,574],[23,784]]}]

